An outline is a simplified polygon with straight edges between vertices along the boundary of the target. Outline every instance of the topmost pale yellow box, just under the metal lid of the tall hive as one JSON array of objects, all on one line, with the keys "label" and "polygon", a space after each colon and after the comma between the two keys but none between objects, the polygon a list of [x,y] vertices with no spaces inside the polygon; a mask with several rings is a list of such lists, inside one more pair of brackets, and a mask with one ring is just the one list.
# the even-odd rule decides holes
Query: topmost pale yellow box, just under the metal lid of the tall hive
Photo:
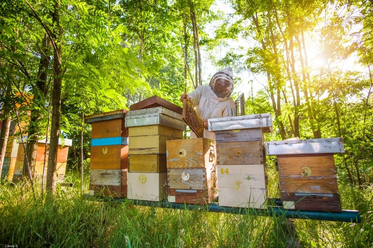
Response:
[{"label": "topmost pale yellow box, just under the metal lid of the tall hive", "polygon": [[128,128],[128,135],[130,137],[146,135],[163,135],[182,139],[184,137],[184,131],[162,125],[134,126]]}]

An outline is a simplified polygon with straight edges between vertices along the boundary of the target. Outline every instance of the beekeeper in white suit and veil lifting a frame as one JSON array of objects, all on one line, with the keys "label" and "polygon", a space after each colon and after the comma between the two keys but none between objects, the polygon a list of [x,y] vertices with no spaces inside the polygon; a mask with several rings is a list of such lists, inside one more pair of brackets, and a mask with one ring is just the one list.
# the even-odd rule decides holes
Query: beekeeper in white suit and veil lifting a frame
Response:
[{"label": "beekeeper in white suit and veil lifting a frame", "polygon": [[[234,107],[232,91],[233,70],[232,67],[227,67],[215,73],[209,85],[198,86],[192,93],[181,95],[180,100],[187,98],[203,120],[204,138],[215,139],[215,132],[207,130],[207,119],[231,116],[231,108]],[[190,138],[197,136],[191,132]]]}]

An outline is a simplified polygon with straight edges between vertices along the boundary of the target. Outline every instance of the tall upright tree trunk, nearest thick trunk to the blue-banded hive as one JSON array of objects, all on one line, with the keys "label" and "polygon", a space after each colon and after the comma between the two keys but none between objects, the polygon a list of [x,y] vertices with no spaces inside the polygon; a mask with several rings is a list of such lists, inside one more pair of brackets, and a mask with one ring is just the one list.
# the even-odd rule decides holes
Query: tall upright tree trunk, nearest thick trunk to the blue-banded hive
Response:
[{"label": "tall upright tree trunk, nearest thick trunk to the blue-banded hive", "polygon": [[[51,134],[49,146],[49,158],[47,169],[47,185],[46,189],[49,192],[56,191],[56,170],[57,170],[57,150],[58,139],[60,134],[60,112],[61,112],[61,87],[62,87],[62,62],[61,62],[61,37],[62,29],[59,22],[59,8],[60,1],[56,0],[54,3],[54,12],[52,13],[52,23],[55,23],[53,28],[53,41],[57,49],[54,49],[53,58],[53,89],[52,89],[52,120],[51,120]],[[58,37],[58,40],[57,40]],[[57,44],[59,43],[59,44]]]}]

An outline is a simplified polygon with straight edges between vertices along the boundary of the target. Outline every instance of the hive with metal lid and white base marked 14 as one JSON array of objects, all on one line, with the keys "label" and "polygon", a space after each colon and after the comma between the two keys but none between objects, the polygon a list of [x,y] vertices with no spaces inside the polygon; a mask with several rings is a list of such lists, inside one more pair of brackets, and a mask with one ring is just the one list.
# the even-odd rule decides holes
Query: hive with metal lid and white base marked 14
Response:
[{"label": "hive with metal lid and white base marked 14", "polygon": [[263,133],[270,114],[208,120],[216,133],[219,205],[265,208],[268,195]]}]

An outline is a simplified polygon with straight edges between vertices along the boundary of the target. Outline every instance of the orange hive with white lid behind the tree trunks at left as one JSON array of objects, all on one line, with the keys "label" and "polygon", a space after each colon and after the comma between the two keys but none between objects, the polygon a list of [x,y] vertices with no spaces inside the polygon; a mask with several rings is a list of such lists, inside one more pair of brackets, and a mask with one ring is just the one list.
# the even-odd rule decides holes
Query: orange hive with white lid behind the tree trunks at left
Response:
[{"label": "orange hive with white lid behind the tree trunks at left", "polygon": [[[26,141],[27,136],[23,136],[23,140]],[[46,157],[46,168],[45,174],[47,175],[47,168],[48,168],[48,150],[49,150],[49,140],[47,142],[47,151],[46,151],[46,139],[41,139],[38,141],[38,149],[36,154],[36,162],[35,162],[35,177],[43,176],[43,168],[44,168],[44,156]],[[18,152],[17,158],[13,173],[13,181],[17,181],[19,177],[22,176],[23,164],[25,161],[25,151],[23,149],[22,140],[21,138],[17,138],[18,143]],[[27,143],[25,143],[27,146]],[[58,139],[58,150],[57,150],[57,177],[60,180],[63,180],[65,177],[66,172],[66,164],[68,160],[69,154],[69,146],[72,145],[72,139]]]}]

